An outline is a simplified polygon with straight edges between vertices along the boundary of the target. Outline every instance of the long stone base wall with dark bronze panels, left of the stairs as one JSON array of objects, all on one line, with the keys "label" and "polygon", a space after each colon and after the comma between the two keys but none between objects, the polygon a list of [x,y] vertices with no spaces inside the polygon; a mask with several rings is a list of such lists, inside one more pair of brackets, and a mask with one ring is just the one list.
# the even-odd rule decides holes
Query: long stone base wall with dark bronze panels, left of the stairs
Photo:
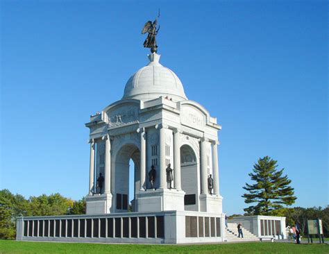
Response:
[{"label": "long stone base wall with dark bronze panels, left of the stairs", "polygon": [[17,240],[183,244],[222,242],[223,214],[128,212],[102,215],[21,217]]}]

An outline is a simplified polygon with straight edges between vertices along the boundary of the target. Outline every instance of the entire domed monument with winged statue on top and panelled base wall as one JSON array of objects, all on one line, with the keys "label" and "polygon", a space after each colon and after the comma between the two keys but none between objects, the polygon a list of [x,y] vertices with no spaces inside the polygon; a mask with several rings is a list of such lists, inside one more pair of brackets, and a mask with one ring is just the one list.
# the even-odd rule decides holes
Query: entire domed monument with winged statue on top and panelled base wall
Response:
[{"label": "entire domed monument with winged statue on top and panelled base wall", "polygon": [[[187,99],[174,71],[160,64],[158,19],[146,22],[149,62],[124,95],[90,116],[86,214],[27,217],[17,239],[67,242],[223,242],[225,214],[217,158],[221,126]],[[133,160],[133,186],[129,161]],[[129,188],[133,197],[128,198]],[[86,188],[87,189],[87,188]],[[131,211],[129,208],[131,200]]]}]

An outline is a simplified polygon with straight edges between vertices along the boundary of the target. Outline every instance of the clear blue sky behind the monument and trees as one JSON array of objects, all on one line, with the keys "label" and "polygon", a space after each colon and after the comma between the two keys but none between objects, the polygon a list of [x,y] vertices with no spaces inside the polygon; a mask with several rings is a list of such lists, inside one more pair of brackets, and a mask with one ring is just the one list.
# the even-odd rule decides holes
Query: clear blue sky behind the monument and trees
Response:
[{"label": "clear blue sky behind the monument and trees", "polygon": [[0,189],[79,199],[89,116],[121,99],[148,62],[144,22],[161,11],[162,65],[223,126],[223,211],[269,155],[296,206],[328,205],[326,1],[1,1]]}]

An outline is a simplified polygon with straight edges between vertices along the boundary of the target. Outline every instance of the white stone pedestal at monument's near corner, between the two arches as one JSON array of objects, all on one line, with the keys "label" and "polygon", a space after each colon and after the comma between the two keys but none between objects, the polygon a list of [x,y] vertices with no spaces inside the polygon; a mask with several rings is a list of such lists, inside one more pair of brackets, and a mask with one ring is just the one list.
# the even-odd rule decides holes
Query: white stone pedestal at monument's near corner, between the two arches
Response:
[{"label": "white stone pedestal at monument's near corner, between the two arches", "polygon": [[137,195],[138,212],[184,211],[185,192],[178,189],[147,189]]}]

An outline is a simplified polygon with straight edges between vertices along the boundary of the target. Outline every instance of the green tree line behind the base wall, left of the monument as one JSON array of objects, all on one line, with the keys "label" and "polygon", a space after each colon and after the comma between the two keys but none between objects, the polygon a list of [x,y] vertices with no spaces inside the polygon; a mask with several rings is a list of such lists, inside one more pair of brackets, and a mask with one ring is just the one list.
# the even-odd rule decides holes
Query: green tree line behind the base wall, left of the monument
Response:
[{"label": "green tree line behind the base wall, left of the monument", "polygon": [[30,196],[0,190],[0,239],[15,239],[16,219],[27,216],[85,214],[85,198],[73,201],[56,193]]}]

